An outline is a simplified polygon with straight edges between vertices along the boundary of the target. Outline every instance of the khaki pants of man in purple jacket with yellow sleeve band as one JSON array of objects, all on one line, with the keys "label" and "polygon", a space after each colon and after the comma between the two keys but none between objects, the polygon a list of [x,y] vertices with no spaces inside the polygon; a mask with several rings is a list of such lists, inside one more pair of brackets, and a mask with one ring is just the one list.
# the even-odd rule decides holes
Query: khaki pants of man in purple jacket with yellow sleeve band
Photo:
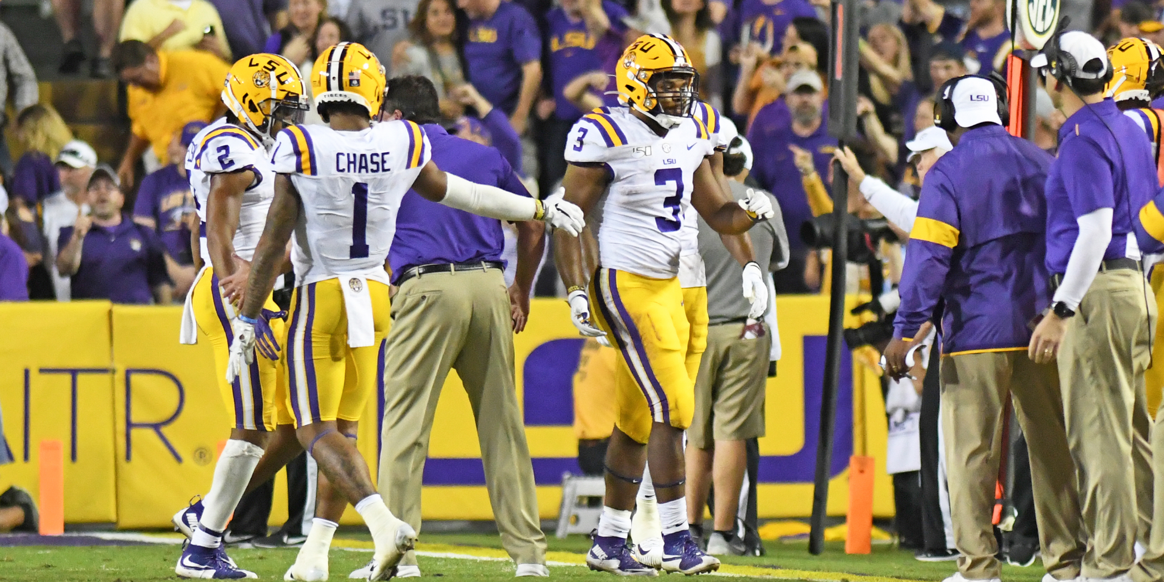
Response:
[{"label": "khaki pants of man in purple jacket with yellow sleeve band", "polygon": [[1067,450],[1063,400],[1051,364],[1027,350],[961,354],[942,359],[942,427],[953,539],[968,580],[999,577],[991,516],[1009,392],[1027,435],[1043,566],[1058,580],[1079,575],[1079,504]]}]

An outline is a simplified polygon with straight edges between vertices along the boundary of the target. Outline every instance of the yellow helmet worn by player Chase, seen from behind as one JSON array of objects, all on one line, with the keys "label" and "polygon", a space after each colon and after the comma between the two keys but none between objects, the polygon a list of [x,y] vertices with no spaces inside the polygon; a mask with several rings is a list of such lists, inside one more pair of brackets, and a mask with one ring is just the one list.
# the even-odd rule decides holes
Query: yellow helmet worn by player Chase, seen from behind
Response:
[{"label": "yellow helmet worn by player Chase, seen from behind", "polygon": [[[341,42],[319,55],[311,69],[311,92],[315,107],[326,102],[352,102],[375,118],[384,102],[388,76],[363,44]],[[326,118],[325,118],[326,121]]]}]

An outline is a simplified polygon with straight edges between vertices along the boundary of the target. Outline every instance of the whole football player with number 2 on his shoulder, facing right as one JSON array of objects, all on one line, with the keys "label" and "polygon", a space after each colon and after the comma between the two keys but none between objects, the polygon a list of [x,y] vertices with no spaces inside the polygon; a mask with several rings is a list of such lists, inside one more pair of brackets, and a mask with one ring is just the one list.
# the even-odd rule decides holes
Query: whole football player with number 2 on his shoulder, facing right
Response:
[{"label": "whole football player with number 2 on his shoulder, facing right", "polygon": [[[235,308],[222,279],[246,271],[275,196],[275,173],[265,144],[285,126],[303,120],[307,99],[299,70],[278,55],[251,55],[230,68],[222,90],[228,113],[204,128],[186,152],[186,171],[200,219],[198,248],[204,267],[186,296],[182,343],[199,334],[214,349],[219,389],[230,418],[230,439],[219,456],[214,481],[201,501],[179,511],[173,524],[190,538],[175,572],[184,577],[256,577],[239,569],[222,545],[235,505],[243,495],[276,425],[276,365],[255,361],[226,382]],[[282,321],[270,293],[260,329],[274,339]]]}]

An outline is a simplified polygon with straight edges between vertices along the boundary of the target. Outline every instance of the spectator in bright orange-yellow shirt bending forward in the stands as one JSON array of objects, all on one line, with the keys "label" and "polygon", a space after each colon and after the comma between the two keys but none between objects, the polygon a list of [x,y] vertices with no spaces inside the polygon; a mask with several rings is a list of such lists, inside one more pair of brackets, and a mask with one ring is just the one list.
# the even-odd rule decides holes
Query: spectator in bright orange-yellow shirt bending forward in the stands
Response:
[{"label": "spectator in bright orange-yellow shirt bending forward in the stands", "polygon": [[113,66],[129,86],[132,133],[118,177],[132,187],[134,164],[147,148],[157,156],[158,163],[147,166],[152,171],[170,163],[166,150],[175,133],[191,121],[211,122],[222,115],[222,83],[230,65],[208,52],[158,52],[144,42],[125,41],[113,51]]}]

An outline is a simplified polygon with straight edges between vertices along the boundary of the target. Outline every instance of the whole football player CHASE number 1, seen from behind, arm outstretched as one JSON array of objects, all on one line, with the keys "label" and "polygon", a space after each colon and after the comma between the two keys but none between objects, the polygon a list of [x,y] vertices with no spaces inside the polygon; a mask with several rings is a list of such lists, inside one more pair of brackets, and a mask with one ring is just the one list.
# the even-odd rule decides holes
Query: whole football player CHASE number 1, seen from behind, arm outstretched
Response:
[{"label": "whole football player CHASE number 1, seen from behind, arm outstretched", "polygon": [[[296,284],[284,345],[289,409],[296,434],[319,470],[355,505],[371,531],[369,580],[386,580],[416,532],[388,510],[367,463],[345,436],[377,389],[378,349],[389,327],[384,261],[400,199],[410,190],[468,212],[505,220],[545,220],[572,235],[581,211],[542,204],[449,176],[430,159],[428,139],[410,121],[371,125],[379,113],[384,68],[363,45],[324,51],[311,74],[317,111],[328,126],[293,126],[278,134],[275,199],[263,230],[230,345],[227,377],[255,359],[262,327],[260,297],[270,293],[293,237]],[[300,556],[303,558],[303,556]],[[286,580],[324,580],[319,562],[296,566]]]}]

